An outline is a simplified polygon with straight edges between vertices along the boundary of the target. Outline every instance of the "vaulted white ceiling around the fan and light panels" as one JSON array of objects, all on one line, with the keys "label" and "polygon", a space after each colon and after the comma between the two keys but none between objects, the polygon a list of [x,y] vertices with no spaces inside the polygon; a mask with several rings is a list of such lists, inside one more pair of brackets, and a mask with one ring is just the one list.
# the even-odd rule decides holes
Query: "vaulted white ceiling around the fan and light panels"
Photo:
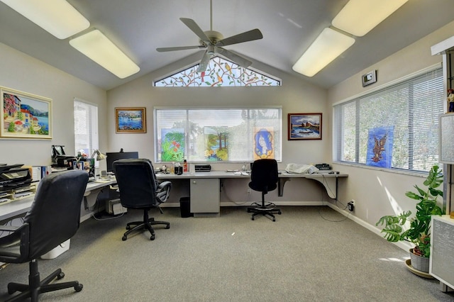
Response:
[{"label": "vaulted white ceiling around the fan and light panels", "polygon": [[[209,30],[209,0],[68,0],[140,67],[118,79],[68,43],[35,26],[0,3],[0,43],[109,90],[204,50],[157,52],[157,47],[198,45],[198,38],[179,18],[192,18]],[[377,0],[376,0],[377,1]],[[307,82],[329,88],[384,57],[454,21],[453,0],[409,0],[314,77],[292,70],[323,28],[331,25],[348,0],[213,0],[213,30],[224,37],[253,28],[263,39],[226,48],[281,69]],[[87,31],[88,31],[87,30]],[[429,50],[428,50],[429,51]],[[1,60],[1,54],[0,54]]]}]

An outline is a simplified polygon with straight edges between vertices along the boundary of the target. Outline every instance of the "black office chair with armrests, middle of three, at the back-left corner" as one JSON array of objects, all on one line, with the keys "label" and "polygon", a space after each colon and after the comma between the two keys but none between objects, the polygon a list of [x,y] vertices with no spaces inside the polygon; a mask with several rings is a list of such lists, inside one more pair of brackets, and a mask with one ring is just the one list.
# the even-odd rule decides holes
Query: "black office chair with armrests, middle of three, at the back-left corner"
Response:
[{"label": "black office chair with armrests, middle of three, at the back-left corner", "polygon": [[[172,183],[162,181],[158,183],[153,171],[150,160],[116,160],[114,162],[114,172],[118,189],[120,191],[121,205],[125,208],[135,208],[143,210],[143,221],[134,221],[126,225],[126,233],[121,240],[128,239],[129,233],[135,230],[149,230],[150,240],[155,240],[155,230],[152,225],[165,225],[170,228],[170,223],[165,221],[155,221],[148,217],[148,211],[152,208],[162,209],[160,204],[169,198]],[[131,228],[133,226],[133,228]]]}]

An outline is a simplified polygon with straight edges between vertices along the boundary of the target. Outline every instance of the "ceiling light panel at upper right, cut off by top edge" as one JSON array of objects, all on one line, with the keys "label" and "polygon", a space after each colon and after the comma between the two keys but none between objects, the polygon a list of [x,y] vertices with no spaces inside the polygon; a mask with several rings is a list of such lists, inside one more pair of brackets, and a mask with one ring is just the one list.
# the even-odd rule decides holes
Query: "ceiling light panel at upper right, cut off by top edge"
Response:
[{"label": "ceiling light panel at upper right, cut off by top edge", "polygon": [[408,0],[350,0],[333,19],[333,26],[362,37]]}]

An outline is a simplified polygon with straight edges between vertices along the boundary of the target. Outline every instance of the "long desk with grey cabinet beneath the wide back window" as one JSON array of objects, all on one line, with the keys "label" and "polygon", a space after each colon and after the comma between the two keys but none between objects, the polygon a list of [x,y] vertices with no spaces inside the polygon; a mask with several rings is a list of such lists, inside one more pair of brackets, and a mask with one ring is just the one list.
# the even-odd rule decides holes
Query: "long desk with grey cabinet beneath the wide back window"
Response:
[{"label": "long desk with grey cabinet beneath the wide back window", "polygon": [[[189,179],[189,192],[191,200],[191,213],[194,217],[211,216],[220,212],[220,188],[222,179],[245,179],[250,178],[250,174],[226,171],[211,172],[191,172],[181,175],[176,174],[156,174],[157,179]],[[333,199],[338,194],[338,179],[348,177],[348,174],[336,174],[329,172],[319,172],[317,174],[289,174],[282,172],[279,174],[278,196],[284,194],[284,184],[292,178],[314,179],[323,184],[328,196]],[[331,188],[335,188],[332,191]]]}]

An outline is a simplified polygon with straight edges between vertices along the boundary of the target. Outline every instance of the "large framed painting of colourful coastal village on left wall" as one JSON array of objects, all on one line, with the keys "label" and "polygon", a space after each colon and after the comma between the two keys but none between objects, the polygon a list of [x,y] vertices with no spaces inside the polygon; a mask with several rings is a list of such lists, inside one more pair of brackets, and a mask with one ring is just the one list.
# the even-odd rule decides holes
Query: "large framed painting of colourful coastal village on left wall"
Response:
[{"label": "large framed painting of colourful coastal village on left wall", "polygon": [[52,99],[0,87],[2,138],[52,138]]}]

